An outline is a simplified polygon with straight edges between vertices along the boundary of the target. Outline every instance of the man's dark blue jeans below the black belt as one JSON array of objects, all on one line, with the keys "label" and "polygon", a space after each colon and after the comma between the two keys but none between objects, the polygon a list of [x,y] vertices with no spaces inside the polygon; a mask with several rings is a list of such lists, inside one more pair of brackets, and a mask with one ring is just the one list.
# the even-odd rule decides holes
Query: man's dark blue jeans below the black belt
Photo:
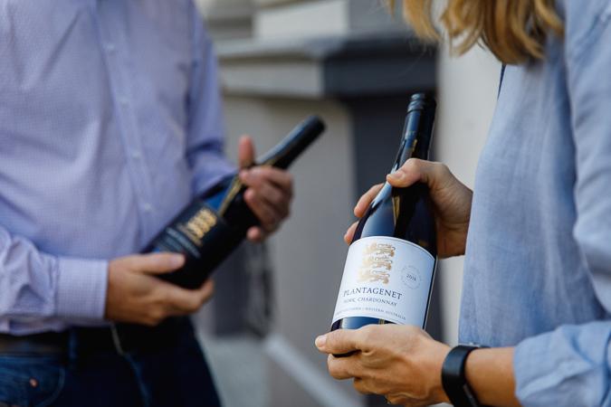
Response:
[{"label": "man's dark blue jeans below the black belt", "polygon": [[157,352],[0,354],[0,406],[216,407],[220,402],[187,325],[175,345]]}]

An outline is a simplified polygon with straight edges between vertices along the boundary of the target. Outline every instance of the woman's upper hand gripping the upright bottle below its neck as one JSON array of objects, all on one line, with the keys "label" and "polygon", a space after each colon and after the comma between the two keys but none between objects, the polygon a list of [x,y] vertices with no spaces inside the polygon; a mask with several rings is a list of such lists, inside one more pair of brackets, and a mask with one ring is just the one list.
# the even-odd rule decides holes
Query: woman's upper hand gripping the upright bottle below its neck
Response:
[{"label": "woman's upper hand gripping the upright bottle below its neck", "polygon": [[[447,166],[411,158],[394,174],[387,175],[387,181],[396,187],[406,187],[416,182],[428,185],[434,204],[439,257],[447,258],[464,254],[473,192],[458,181]],[[365,214],[381,188],[381,184],[375,185],[361,196],[354,208],[354,214],[358,218]],[[346,232],[344,240],[347,243],[352,241],[356,228],[357,222]]]}]

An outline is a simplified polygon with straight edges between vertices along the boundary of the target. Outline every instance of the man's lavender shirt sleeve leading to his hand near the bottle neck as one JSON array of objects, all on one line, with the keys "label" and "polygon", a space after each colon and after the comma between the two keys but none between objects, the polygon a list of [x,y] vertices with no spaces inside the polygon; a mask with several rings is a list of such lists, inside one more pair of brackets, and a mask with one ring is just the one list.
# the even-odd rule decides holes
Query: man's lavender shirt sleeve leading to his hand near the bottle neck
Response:
[{"label": "man's lavender shirt sleeve leading to his hand near the bottle neck", "polygon": [[199,194],[224,176],[232,174],[235,167],[224,156],[223,102],[215,50],[195,6],[193,16],[193,64],[186,156],[193,172],[193,192]]}]

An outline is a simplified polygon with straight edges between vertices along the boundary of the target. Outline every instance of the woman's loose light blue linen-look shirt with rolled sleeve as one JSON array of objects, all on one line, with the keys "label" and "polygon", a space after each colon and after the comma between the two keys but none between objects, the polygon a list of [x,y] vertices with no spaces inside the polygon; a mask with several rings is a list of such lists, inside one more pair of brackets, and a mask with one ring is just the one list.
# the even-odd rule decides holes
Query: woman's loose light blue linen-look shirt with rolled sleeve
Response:
[{"label": "woman's loose light blue linen-look shirt with rolled sleeve", "polygon": [[480,159],[460,340],[517,345],[526,406],[611,405],[611,2],[510,66]]}]

